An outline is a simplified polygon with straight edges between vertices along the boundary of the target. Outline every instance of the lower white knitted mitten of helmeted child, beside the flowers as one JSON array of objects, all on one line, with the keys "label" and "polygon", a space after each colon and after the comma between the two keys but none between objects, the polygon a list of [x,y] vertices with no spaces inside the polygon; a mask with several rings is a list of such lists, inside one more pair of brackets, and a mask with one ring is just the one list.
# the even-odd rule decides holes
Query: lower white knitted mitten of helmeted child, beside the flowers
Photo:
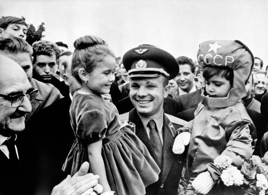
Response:
[{"label": "lower white knitted mitten of helmeted child, beside the flowers", "polygon": [[208,171],[200,173],[192,182],[192,186],[199,194],[207,194],[213,185],[214,182]]}]

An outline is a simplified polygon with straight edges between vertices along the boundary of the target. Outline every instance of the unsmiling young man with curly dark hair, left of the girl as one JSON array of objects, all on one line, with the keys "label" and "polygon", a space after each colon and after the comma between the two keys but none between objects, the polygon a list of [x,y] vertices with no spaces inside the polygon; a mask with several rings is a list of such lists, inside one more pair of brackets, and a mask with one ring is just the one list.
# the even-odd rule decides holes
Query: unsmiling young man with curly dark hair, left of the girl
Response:
[{"label": "unsmiling young man with curly dark hair, left of the girl", "polygon": [[65,85],[54,75],[58,70],[58,58],[60,49],[58,46],[46,40],[33,43],[33,78],[44,83],[54,85],[60,92],[65,92]]}]

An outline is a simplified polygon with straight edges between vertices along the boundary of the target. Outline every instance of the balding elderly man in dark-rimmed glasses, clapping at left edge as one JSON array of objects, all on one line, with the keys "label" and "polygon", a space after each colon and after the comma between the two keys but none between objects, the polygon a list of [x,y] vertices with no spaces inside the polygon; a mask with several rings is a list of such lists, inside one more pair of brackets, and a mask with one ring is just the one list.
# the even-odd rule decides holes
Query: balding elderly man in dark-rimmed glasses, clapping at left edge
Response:
[{"label": "balding elderly man in dark-rimmed glasses, clapping at left edge", "polygon": [[50,194],[52,189],[48,186],[53,182],[56,185],[53,195],[91,194],[99,176],[87,174],[87,163],[82,164],[72,178],[61,170],[54,174],[58,175],[58,182],[46,177],[48,172],[56,170],[44,166],[46,153],[40,148],[44,148],[45,142],[37,139],[34,131],[25,129],[25,115],[31,112],[31,101],[38,90],[31,86],[24,70],[2,54],[0,52],[0,194]]}]

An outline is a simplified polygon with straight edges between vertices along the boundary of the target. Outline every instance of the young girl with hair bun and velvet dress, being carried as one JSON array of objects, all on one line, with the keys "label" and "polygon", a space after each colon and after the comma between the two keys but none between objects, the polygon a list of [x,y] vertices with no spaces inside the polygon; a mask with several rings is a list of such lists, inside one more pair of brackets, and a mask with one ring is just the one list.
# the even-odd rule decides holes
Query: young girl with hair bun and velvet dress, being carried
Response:
[{"label": "young girl with hair bun and velvet dress, being carried", "polygon": [[63,170],[74,175],[88,161],[90,172],[100,175],[103,192],[145,194],[160,169],[139,138],[119,123],[115,105],[101,96],[115,80],[115,56],[96,36],[80,37],[74,47],[71,70],[82,88],[74,93],[70,107],[76,141]]}]

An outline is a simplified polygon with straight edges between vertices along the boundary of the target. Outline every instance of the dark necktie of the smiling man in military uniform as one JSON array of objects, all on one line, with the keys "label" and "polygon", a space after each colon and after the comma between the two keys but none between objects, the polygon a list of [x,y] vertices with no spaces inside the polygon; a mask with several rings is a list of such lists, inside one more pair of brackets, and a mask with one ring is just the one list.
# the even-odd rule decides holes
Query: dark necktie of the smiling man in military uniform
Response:
[{"label": "dark necktie of the smiling man in military uniform", "polygon": [[150,141],[155,151],[155,155],[157,157],[158,164],[160,168],[162,168],[162,155],[163,155],[163,146],[157,132],[157,127],[154,120],[150,120],[148,123],[148,127],[150,129]]}]

